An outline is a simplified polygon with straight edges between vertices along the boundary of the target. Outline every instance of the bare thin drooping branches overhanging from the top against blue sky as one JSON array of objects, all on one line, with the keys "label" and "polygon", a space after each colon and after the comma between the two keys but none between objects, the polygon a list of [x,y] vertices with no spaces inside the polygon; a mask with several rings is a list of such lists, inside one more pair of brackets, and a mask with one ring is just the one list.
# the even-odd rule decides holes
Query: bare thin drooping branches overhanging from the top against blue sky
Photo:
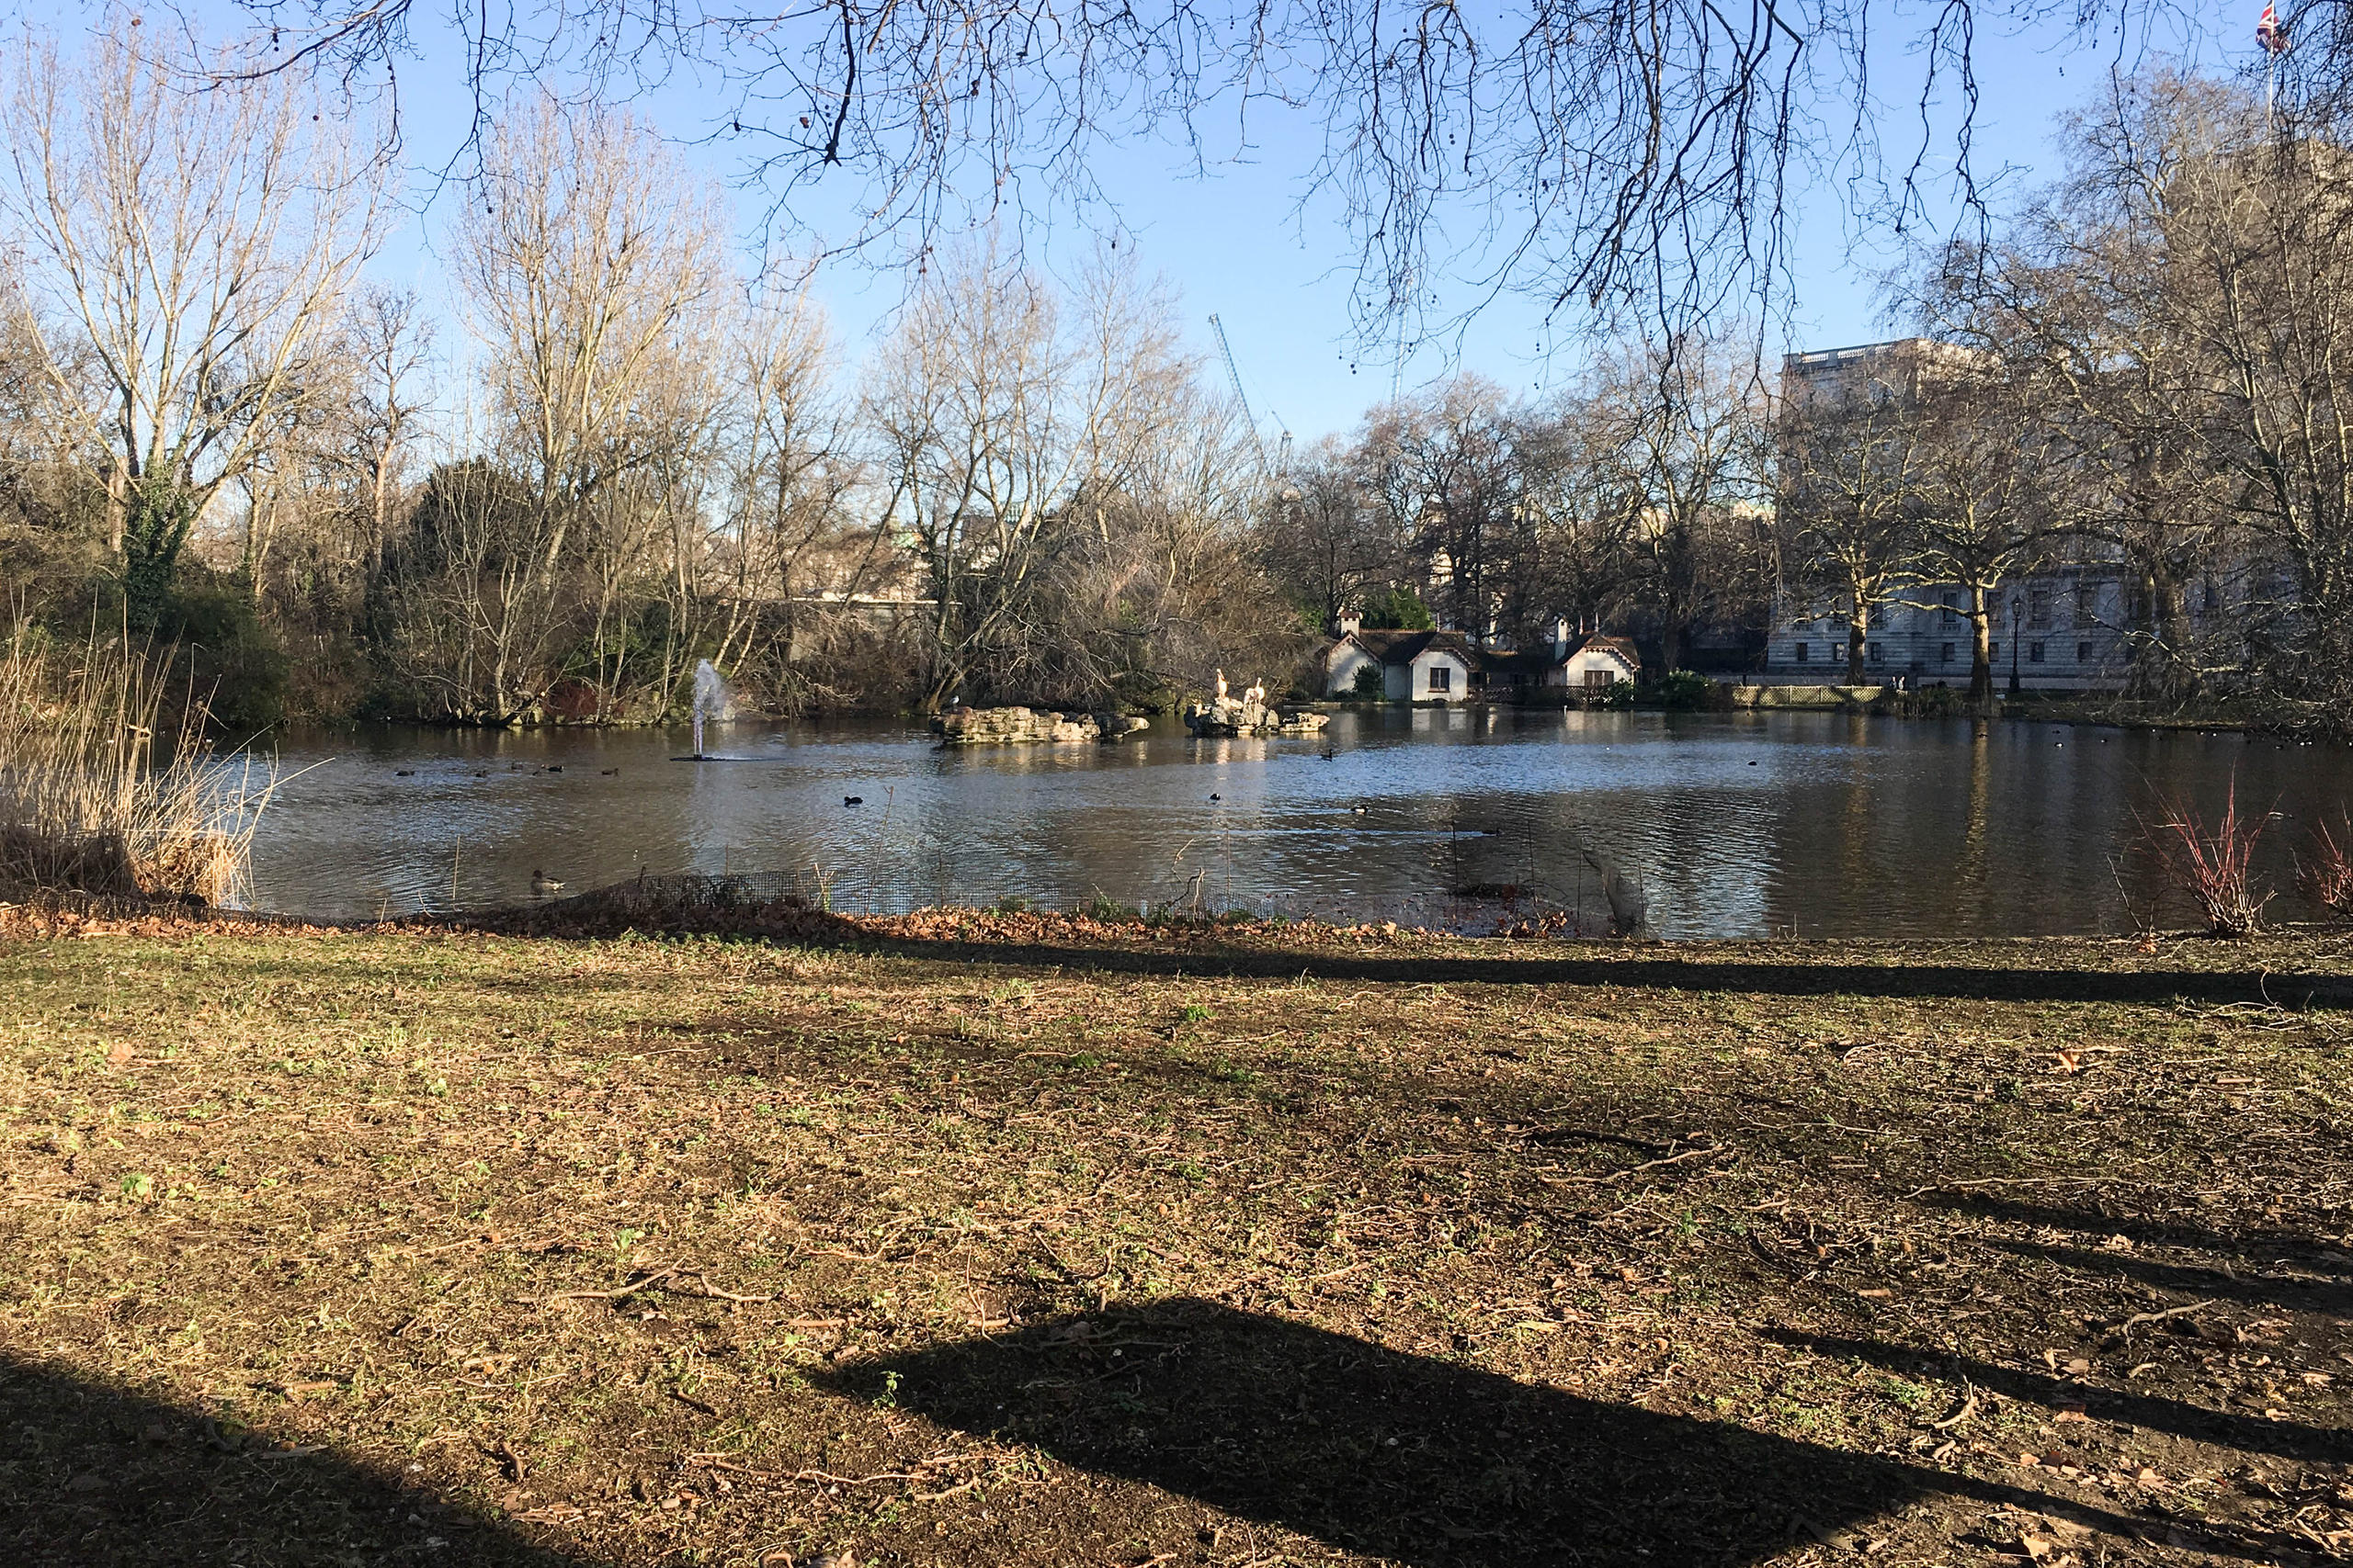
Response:
[{"label": "bare thin drooping branches overhanging from the top against blue sky", "polygon": [[[268,28],[249,71],[332,59],[395,89],[412,28],[431,26],[414,0],[240,5]],[[2075,26],[2104,35],[2120,16],[2120,0],[2097,2]],[[1969,127],[1977,38],[1995,19],[2047,12],[2026,0],[1894,12],[1868,0],[751,12],[544,0],[459,9],[442,26],[459,33],[478,103],[518,80],[628,89],[680,66],[727,82],[715,129],[751,155],[774,216],[852,174],[856,228],[833,240],[906,261],[1031,212],[1115,221],[1094,174],[1106,146],[1165,136],[1214,169],[1273,146],[1261,127],[1287,120],[1282,141],[1315,148],[1297,174],[1346,214],[1358,320],[1388,343],[1445,327],[1445,280],[1480,299],[1522,289],[1562,313],[1642,301],[1661,327],[1692,327],[1727,294],[1777,284],[1793,165],[1899,228],[1920,226],[1937,176],[1981,216]],[[1922,127],[1892,160],[1878,134],[1889,96],[1915,99]]]}]

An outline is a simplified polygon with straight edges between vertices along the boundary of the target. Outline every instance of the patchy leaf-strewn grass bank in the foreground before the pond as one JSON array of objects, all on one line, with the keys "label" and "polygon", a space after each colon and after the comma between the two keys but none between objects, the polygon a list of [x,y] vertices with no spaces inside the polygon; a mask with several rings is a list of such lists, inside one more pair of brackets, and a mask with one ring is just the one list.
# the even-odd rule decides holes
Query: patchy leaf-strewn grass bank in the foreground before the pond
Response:
[{"label": "patchy leaf-strewn grass bank in the foreground before the pond", "polygon": [[2341,940],[5,931],[9,1561],[2353,1544]]}]

